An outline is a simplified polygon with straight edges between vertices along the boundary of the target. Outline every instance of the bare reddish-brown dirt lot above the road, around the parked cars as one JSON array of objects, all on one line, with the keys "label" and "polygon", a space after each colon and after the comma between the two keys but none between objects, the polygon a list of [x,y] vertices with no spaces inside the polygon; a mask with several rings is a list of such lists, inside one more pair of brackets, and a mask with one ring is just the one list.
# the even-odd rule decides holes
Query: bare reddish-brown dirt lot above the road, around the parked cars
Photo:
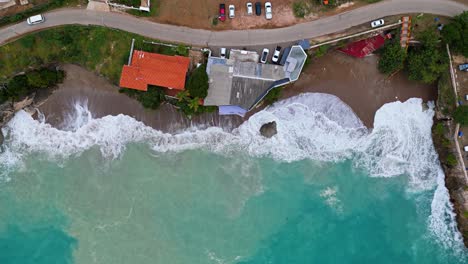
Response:
[{"label": "bare reddish-brown dirt lot above the road, around the parked cars", "polygon": [[[153,21],[179,26],[187,26],[191,28],[203,28],[210,30],[225,30],[225,29],[251,29],[251,28],[278,28],[286,27],[293,24],[306,22],[318,19],[320,16],[332,15],[340,12],[345,12],[353,8],[362,6],[359,1],[350,2],[343,7],[330,9],[329,11],[320,11],[317,14],[311,14],[306,18],[296,18],[292,11],[292,4],[295,0],[269,0],[272,4],[273,19],[265,19],[265,2],[262,3],[262,15],[254,14],[247,15],[247,0],[229,0],[227,2],[219,0],[160,0],[159,11],[156,17],[150,18]],[[256,1],[250,1],[255,4]],[[226,4],[227,8],[230,4],[236,7],[235,18],[226,21],[219,21],[217,25],[213,25],[213,18],[218,16],[219,4]],[[177,12],[174,12],[177,10]]]}]

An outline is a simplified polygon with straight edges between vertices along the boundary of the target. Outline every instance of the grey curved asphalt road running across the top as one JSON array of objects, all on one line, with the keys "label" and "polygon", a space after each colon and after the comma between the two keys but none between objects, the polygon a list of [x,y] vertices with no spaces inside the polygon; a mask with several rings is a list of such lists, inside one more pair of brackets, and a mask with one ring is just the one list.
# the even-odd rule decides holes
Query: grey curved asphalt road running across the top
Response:
[{"label": "grey curved asphalt road running across the top", "polygon": [[345,13],[286,28],[209,31],[158,24],[132,16],[85,9],[62,9],[46,14],[46,22],[29,26],[26,21],[0,29],[0,44],[25,33],[65,24],[99,25],[143,36],[194,46],[256,46],[310,39],[339,32],[371,20],[404,13],[431,13],[455,16],[468,5],[450,0],[385,0]]}]

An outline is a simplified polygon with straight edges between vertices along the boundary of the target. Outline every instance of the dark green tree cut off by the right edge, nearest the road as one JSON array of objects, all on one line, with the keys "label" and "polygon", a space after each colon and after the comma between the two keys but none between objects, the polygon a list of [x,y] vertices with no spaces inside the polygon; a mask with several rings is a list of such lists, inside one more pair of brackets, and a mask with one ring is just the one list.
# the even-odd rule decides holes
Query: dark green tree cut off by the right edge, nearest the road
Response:
[{"label": "dark green tree cut off by the right edge, nearest the road", "polygon": [[442,38],[453,51],[468,57],[468,11],[454,17],[442,29]]}]

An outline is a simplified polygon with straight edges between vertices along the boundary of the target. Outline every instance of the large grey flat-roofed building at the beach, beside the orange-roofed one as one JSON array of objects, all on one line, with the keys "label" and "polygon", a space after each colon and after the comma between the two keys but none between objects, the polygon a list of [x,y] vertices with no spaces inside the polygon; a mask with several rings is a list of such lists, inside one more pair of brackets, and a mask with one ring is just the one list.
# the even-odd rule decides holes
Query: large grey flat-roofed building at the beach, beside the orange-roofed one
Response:
[{"label": "large grey flat-roofed building at the beach, beside the orange-roofed one", "polygon": [[285,50],[279,64],[259,63],[254,51],[235,50],[228,58],[208,58],[208,96],[204,105],[218,106],[221,115],[245,115],[270,90],[296,81],[307,54],[303,47],[294,45]]}]

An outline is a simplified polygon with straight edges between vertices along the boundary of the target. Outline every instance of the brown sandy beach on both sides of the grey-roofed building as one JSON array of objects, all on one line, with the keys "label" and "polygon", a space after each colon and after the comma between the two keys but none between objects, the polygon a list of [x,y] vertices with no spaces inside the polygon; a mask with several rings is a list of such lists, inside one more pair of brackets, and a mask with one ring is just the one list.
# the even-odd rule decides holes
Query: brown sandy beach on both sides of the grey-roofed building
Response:
[{"label": "brown sandy beach on both sides of the grey-roofed building", "polygon": [[[369,128],[372,127],[375,112],[385,103],[405,101],[411,97],[423,98],[424,101],[435,100],[435,87],[407,81],[403,74],[388,79],[378,73],[376,64],[376,56],[355,59],[332,52],[312,61],[303,71],[299,81],[284,89],[282,98],[303,92],[336,95],[347,103]],[[67,72],[64,83],[39,107],[46,117],[46,122],[58,128],[63,128],[63,122],[73,111],[75,103],[85,101],[94,118],[125,114],[168,133],[208,126],[219,126],[230,131],[251,114],[263,109],[259,107],[245,118],[210,113],[188,119],[168,104],[162,105],[158,110],[144,109],[138,101],[119,93],[117,86],[80,66],[62,67]]]}]

